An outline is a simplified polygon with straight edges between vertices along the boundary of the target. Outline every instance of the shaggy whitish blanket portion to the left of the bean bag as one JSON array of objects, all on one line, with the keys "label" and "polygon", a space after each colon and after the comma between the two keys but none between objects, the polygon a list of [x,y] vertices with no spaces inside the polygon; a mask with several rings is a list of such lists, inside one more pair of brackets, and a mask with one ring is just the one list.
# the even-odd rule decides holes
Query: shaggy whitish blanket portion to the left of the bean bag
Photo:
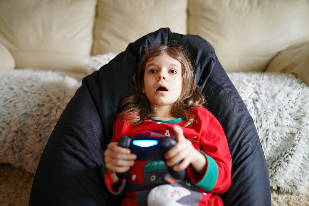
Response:
[{"label": "shaggy whitish blanket portion to the left of the bean bag", "polygon": [[35,173],[47,140],[83,76],[33,69],[0,71],[0,156],[5,162]]}]

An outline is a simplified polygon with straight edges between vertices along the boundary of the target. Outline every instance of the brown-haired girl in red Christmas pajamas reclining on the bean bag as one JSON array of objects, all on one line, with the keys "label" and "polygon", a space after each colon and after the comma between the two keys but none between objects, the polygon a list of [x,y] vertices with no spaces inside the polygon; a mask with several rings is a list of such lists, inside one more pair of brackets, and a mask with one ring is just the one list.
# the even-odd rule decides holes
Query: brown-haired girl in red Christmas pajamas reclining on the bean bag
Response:
[{"label": "brown-haired girl in red Christmas pajamas reclining on the bean bag", "polygon": [[[202,107],[188,55],[175,46],[145,51],[133,80],[135,94],[123,100],[104,152],[108,190],[125,190],[122,205],[223,205],[214,193],[231,185],[231,155],[221,125]],[[166,163],[134,161],[135,154],[117,145],[124,135],[170,136],[178,143],[165,153]],[[186,179],[171,178],[166,166],[185,169]],[[117,177],[130,167],[126,179]]]}]

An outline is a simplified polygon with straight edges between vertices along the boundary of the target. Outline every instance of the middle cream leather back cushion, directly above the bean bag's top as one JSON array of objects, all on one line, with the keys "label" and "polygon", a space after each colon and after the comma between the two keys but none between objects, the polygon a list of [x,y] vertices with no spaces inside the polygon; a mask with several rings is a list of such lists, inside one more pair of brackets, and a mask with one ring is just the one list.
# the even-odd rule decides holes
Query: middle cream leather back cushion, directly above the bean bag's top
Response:
[{"label": "middle cream leather back cushion, directly above the bean bag's top", "polygon": [[187,8],[188,0],[98,0],[92,54],[122,52],[161,27],[186,34]]}]

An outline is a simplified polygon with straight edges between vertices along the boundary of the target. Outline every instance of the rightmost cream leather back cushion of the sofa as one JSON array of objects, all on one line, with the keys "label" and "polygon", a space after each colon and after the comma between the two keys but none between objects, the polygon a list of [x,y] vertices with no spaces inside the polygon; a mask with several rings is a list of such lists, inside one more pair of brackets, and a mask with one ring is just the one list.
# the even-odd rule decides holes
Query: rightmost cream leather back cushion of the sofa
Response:
[{"label": "rightmost cream leather back cushion of the sofa", "polygon": [[309,35],[307,0],[188,0],[188,33],[215,48],[227,72],[261,71]]}]

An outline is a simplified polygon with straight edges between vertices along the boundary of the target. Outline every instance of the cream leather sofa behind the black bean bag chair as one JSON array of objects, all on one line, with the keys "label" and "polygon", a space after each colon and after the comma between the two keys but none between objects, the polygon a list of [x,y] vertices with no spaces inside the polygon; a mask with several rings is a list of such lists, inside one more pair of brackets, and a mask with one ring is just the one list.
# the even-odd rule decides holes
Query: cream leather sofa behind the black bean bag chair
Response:
[{"label": "cream leather sofa behind the black bean bag chair", "polygon": [[0,2],[0,69],[86,73],[161,27],[200,35],[227,72],[292,72],[309,83],[308,0],[10,0]]}]

